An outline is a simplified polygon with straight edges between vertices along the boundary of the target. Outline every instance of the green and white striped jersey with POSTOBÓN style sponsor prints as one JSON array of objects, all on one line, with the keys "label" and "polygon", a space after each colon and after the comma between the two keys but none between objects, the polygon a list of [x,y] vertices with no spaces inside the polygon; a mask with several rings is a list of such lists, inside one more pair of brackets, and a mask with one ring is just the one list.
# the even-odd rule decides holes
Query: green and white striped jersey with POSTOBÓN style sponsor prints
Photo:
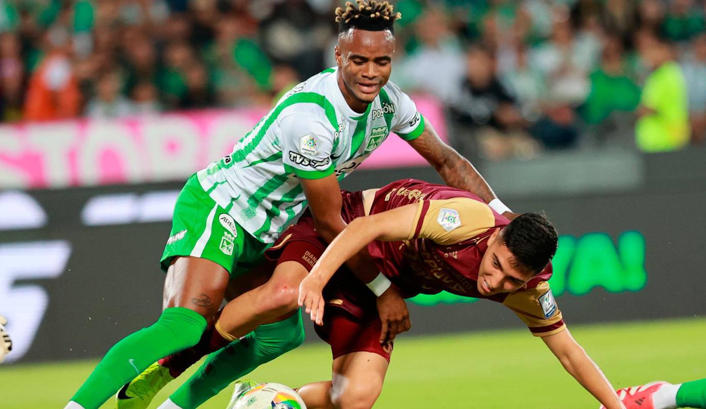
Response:
[{"label": "green and white striped jersey with POSTOB\u00d3N style sponsor prints", "polygon": [[407,94],[387,83],[364,114],[353,111],[329,68],[287,92],[233,147],[198,172],[203,189],[249,233],[273,243],[306,207],[299,178],[354,171],[390,131],[405,140],[424,130]]}]

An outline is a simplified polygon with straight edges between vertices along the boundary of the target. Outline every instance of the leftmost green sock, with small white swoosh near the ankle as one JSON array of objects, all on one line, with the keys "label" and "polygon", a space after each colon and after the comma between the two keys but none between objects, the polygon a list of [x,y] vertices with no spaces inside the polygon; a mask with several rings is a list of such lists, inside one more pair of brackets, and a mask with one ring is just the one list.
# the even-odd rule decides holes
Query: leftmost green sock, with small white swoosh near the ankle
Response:
[{"label": "leftmost green sock, with small white swoosh near the ankle", "polygon": [[155,324],[133,332],[105,354],[71,398],[85,409],[98,408],[152,362],[198,343],[206,319],[184,307],[167,308]]}]

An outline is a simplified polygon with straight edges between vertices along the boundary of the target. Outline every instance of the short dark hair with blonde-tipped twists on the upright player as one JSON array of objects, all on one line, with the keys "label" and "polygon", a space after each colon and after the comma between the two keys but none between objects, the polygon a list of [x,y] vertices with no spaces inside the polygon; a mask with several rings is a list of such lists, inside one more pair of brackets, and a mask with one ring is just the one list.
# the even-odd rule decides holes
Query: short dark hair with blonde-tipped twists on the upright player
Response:
[{"label": "short dark hair with blonde-tipped twists on the upright player", "polygon": [[356,0],[356,3],[352,4],[350,1],[346,1],[345,8],[336,8],[336,23],[338,23],[339,33],[346,32],[351,28],[395,32],[393,23],[402,17],[402,13],[395,13],[395,8],[388,1]]}]

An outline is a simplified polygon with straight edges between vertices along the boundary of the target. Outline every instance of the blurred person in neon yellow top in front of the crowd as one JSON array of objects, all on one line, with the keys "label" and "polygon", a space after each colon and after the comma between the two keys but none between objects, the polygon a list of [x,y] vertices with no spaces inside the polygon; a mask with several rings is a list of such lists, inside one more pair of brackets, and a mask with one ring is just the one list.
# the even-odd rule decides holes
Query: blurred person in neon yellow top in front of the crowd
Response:
[{"label": "blurred person in neon yellow top in front of the crowd", "polygon": [[645,82],[638,108],[635,138],[643,152],[664,152],[689,141],[686,80],[669,44],[652,37],[640,55],[652,73]]}]

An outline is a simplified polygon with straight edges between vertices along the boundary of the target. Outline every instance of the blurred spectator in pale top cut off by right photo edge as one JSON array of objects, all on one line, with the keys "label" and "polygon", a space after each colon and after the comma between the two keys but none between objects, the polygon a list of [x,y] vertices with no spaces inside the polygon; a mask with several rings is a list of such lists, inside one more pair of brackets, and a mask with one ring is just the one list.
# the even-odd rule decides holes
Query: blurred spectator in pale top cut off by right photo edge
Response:
[{"label": "blurred spectator in pale top cut off by right photo edge", "polygon": [[693,39],[681,63],[688,84],[689,120],[694,142],[706,140],[706,33]]}]

